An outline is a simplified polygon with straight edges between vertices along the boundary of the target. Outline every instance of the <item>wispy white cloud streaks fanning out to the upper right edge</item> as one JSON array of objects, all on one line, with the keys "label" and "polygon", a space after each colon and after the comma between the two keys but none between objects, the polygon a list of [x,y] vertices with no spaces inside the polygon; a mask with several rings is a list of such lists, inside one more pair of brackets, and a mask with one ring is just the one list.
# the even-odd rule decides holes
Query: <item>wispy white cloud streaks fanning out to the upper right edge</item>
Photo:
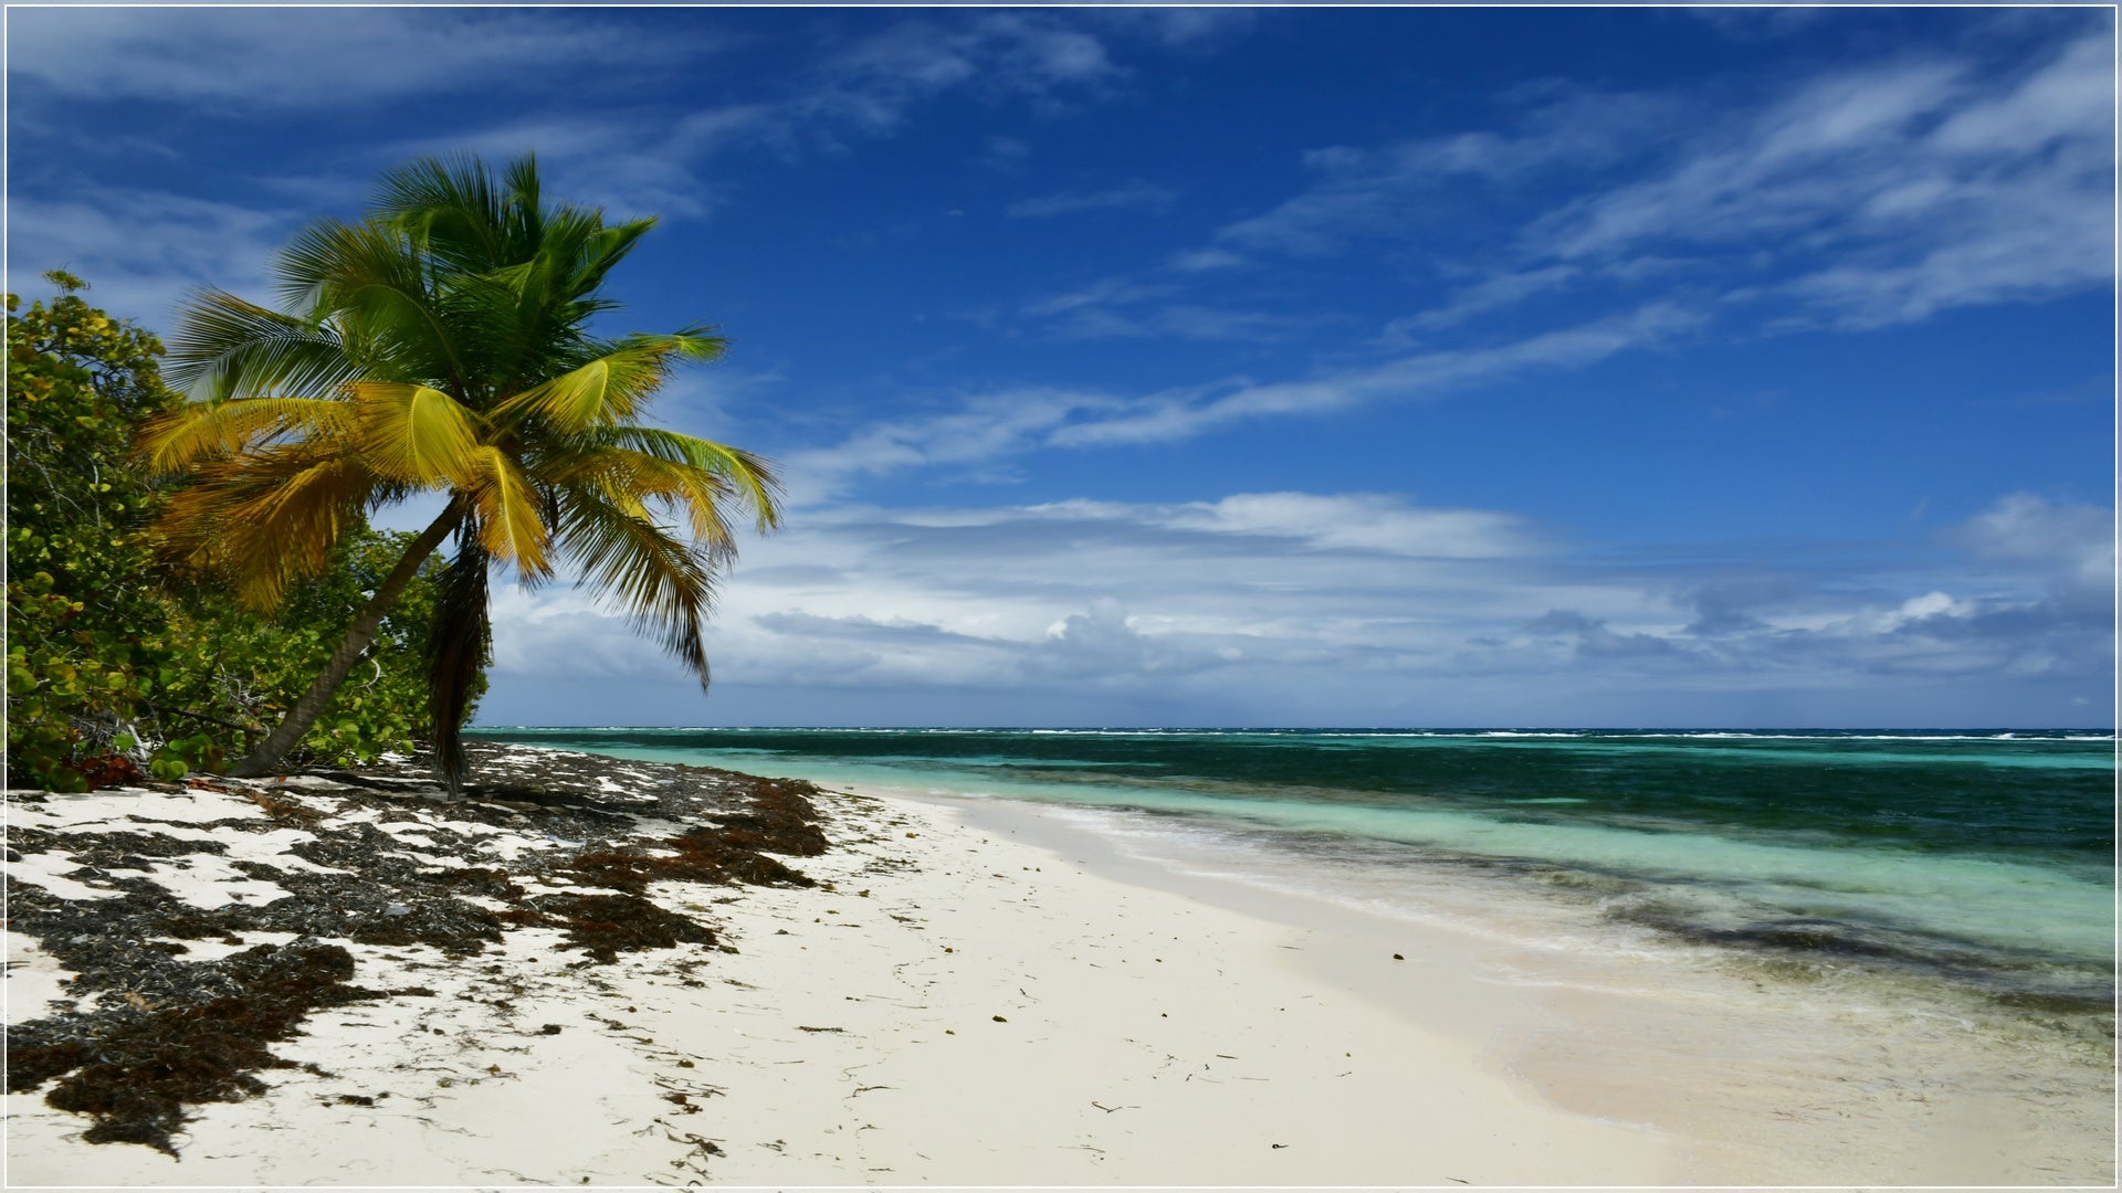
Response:
[{"label": "wispy white cloud streaks fanning out to the upper right edge", "polygon": [[1625,287],[1645,261],[1698,272],[1746,331],[2039,301],[2114,274],[2114,76],[2094,32],[2027,64],[1889,55],[1742,102],[1566,89],[1494,129],[1316,149],[1307,187],[1195,253],[1301,261],[1451,221],[1439,267],[1490,280],[1401,333]]}]

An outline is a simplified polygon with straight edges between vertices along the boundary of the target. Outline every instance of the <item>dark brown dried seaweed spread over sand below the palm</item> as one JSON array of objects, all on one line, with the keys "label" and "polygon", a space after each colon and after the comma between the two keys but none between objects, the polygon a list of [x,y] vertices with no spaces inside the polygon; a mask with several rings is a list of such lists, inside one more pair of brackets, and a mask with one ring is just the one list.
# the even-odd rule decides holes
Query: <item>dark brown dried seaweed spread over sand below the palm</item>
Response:
[{"label": "dark brown dried seaweed spread over sand below the palm", "polygon": [[[352,985],[356,962],[342,940],[429,945],[467,957],[514,930],[558,928],[560,947],[584,953],[577,966],[626,951],[715,945],[709,923],[647,898],[651,885],[808,887],[808,877],[770,853],[817,855],[828,845],[806,798],[817,788],[804,781],[490,743],[467,743],[467,751],[473,781],[439,809],[429,802],[441,792],[424,779],[422,758],[359,775],[314,771],[286,785],[197,783],[246,796],[267,815],[189,828],[310,834],[286,853],[327,870],[227,862],[286,892],[263,904],[229,900],[202,911],[149,877],[155,864],[225,858],[221,838],[157,832],[157,822],[140,815],[129,817],[134,828],[108,832],[13,828],[11,862],[55,851],[74,864],[68,879],[115,894],[64,900],[11,881],[11,928],[76,976],[55,1015],[8,1027],[6,1091],[49,1085],[47,1104],[93,1119],[87,1142],[176,1155],[172,1136],[187,1121],[185,1108],[263,1093],[257,1072],[289,1064],[267,1044],[297,1036],[312,1010],[433,996],[424,987]],[[622,783],[611,781],[615,773],[624,773]],[[51,796],[11,798],[34,805]],[[399,822],[418,826],[418,849],[378,828]],[[486,847],[503,832],[554,847],[503,860]],[[463,864],[437,868],[416,851]],[[486,906],[494,902],[503,906]],[[219,959],[185,957],[185,940],[244,945],[244,932],[295,940]]]}]

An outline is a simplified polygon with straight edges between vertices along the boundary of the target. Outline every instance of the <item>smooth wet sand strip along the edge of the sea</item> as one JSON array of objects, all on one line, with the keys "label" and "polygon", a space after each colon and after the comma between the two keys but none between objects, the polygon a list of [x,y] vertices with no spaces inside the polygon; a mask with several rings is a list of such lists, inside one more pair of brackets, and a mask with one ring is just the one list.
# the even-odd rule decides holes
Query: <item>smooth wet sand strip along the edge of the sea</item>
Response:
[{"label": "smooth wet sand strip along the edge of the sea", "polygon": [[[1906,991],[1763,981],[1732,955],[1670,943],[1558,943],[1545,938],[1553,909],[1532,896],[1481,923],[1413,917],[1403,900],[1381,909],[1297,885],[1237,847],[1182,843],[1142,813],[902,798],[961,809],[1099,877],[1282,926],[1318,981],[1485,1040],[1475,1068],[1521,1097],[1662,1140],[1672,1185],[2114,1182],[2111,1040],[2088,1057],[2082,1040],[1999,1036],[1995,1021],[1944,1017]],[[1422,981],[1377,966],[1386,951],[1424,962]]]}]

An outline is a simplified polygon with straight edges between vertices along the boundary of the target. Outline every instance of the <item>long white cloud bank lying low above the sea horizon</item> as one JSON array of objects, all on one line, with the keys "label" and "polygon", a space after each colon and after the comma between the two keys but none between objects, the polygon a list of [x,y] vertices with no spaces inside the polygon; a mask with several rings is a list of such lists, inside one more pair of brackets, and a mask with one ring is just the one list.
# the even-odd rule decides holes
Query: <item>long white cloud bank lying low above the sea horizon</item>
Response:
[{"label": "long white cloud bank lying low above the sea horizon", "polygon": [[[876,709],[985,692],[993,709],[1106,694],[1252,724],[1415,709],[1428,724],[1617,724],[1600,713],[1621,707],[1806,724],[1799,709],[1831,720],[1906,696],[1959,717],[1990,707],[1995,724],[2111,681],[2111,575],[2092,584],[2109,622],[2060,596],[2082,596],[2103,522],[2111,541],[2103,509],[2014,495],[1923,558],[1823,565],[1755,543],[1755,569],[1734,575],[1717,563],[1729,543],[1585,554],[1509,512],[1381,495],[836,509],[747,548],[713,652],[726,686],[868,692]],[[656,681],[675,664],[558,588],[505,599],[497,681],[511,673]],[[1473,692],[1515,692],[1524,715],[1475,715]],[[1638,703],[1613,705],[1619,692]],[[2007,694],[2033,703],[1999,705]]]}]

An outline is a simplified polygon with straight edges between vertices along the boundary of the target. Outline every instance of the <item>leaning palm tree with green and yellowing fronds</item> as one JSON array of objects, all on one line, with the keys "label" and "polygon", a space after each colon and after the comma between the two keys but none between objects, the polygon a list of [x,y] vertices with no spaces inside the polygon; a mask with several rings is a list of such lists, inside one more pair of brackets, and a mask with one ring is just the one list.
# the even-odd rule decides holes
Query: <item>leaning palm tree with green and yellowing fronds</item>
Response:
[{"label": "leaning palm tree with green and yellowing fronds", "polygon": [[673,365],[721,355],[711,329],[590,331],[618,306],[605,276],[651,225],[545,202],[533,157],[499,176],[475,157],[422,159],[382,176],[367,219],[316,221],[278,255],[282,310],[225,291],[187,299],[168,371],[193,401],[138,437],[151,469],[187,480],[157,524],[166,558],[269,611],[367,512],[443,497],[231,775],[280,766],[446,541],[427,667],[452,794],[497,565],[526,586],[573,565],[707,688],[700,622],[736,554],[726,512],[775,526],[779,482],[760,456],[641,425]]}]

